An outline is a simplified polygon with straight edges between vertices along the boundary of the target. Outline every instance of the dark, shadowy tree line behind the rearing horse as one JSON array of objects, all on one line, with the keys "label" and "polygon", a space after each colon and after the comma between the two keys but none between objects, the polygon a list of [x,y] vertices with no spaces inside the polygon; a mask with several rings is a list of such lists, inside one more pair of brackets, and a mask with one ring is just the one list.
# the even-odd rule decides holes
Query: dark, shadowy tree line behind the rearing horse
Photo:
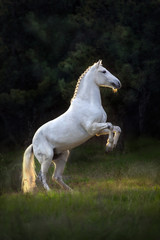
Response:
[{"label": "dark, shadowy tree line behind the rearing horse", "polygon": [[67,109],[79,75],[99,59],[123,85],[102,90],[108,120],[158,136],[159,16],[159,0],[1,0],[1,142],[24,144]]}]

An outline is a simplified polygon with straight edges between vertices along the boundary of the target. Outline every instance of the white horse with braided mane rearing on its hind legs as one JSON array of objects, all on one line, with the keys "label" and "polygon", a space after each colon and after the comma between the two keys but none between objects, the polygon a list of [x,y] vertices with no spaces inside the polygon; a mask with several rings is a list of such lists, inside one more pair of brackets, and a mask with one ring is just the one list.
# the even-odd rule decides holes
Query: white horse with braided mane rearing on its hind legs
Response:
[{"label": "white horse with braided mane rearing on its hind legs", "polygon": [[111,151],[117,145],[121,129],[106,122],[107,114],[101,104],[99,87],[113,90],[121,87],[120,81],[102,66],[101,60],[80,76],[69,109],[41,126],[35,133],[32,144],[24,153],[23,192],[31,192],[36,186],[34,155],[41,164],[38,178],[46,190],[50,190],[46,174],[52,161],[55,165],[53,180],[64,189],[71,190],[62,179],[69,150],[95,135],[109,134],[106,151]]}]

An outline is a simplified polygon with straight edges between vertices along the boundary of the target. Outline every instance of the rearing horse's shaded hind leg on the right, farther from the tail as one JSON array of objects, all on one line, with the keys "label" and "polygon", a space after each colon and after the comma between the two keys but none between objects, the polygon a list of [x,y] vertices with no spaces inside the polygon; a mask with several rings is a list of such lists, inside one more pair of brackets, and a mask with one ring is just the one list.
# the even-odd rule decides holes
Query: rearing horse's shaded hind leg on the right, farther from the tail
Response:
[{"label": "rearing horse's shaded hind leg on the right, farther from the tail", "polygon": [[53,159],[55,170],[52,179],[56,181],[63,189],[72,191],[72,189],[63,181],[62,174],[65,169],[67,159],[69,157],[69,151],[61,153],[56,159]]}]

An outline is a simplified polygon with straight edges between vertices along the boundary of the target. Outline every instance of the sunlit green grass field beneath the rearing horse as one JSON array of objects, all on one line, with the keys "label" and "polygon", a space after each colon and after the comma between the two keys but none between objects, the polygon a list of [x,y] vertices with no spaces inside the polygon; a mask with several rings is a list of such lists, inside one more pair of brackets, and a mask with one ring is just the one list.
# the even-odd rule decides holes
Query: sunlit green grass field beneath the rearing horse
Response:
[{"label": "sunlit green grass field beneath the rearing horse", "polygon": [[64,173],[73,193],[51,182],[51,167],[53,191],[23,195],[21,156],[1,155],[2,240],[160,239],[160,141],[139,139],[107,155],[99,142],[73,150]]}]

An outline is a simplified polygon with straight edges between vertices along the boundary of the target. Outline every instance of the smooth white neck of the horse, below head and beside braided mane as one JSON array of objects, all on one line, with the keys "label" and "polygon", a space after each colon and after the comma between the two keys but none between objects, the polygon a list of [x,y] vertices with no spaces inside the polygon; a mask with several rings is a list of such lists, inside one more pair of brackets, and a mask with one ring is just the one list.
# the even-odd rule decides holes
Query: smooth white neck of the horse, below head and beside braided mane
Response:
[{"label": "smooth white neck of the horse, below head and beside braided mane", "polygon": [[87,74],[81,81],[76,98],[94,105],[101,105],[99,86],[93,80],[91,74]]}]

